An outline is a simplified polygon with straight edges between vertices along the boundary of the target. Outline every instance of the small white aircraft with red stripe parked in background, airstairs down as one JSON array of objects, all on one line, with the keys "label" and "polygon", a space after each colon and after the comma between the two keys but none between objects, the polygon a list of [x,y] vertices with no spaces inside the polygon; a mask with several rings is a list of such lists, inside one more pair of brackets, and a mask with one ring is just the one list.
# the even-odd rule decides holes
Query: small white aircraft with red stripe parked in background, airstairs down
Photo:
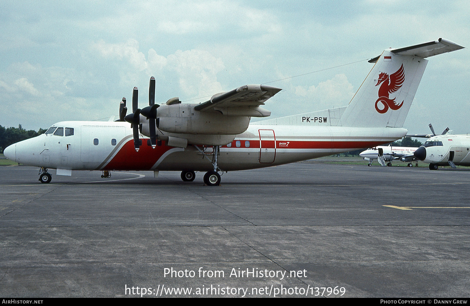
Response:
[{"label": "small white aircraft with red stripe parked in background, airstairs down", "polygon": [[385,166],[385,161],[388,161],[386,165],[389,167],[392,166],[392,161],[404,161],[408,162],[408,167],[413,167],[411,161],[416,160],[413,155],[416,149],[417,147],[378,145],[362,151],[359,156],[369,161],[368,166],[372,166],[372,162],[377,160],[381,166]]}]

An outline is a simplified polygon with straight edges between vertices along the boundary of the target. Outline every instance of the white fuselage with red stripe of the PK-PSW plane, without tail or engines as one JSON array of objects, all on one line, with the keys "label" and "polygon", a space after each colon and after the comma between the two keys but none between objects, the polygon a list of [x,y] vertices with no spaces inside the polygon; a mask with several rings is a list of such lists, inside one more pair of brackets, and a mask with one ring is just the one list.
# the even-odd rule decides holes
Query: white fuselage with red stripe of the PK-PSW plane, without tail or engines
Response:
[{"label": "white fuselage with red stripe of the PK-PSW plane, without tail or engines", "polygon": [[[127,122],[58,122],[53,127],[73,129],[73,135],[42,134],[9,146],[5,155],[16,162],[69,170],[191,170],[209,171],[211,161],[194,145],[152,148],[141,137],[138,152]],[[402,128],[287,126],[251,123],[248,130],[220,146],[223,171],[262,168],[372,147],[402,138]],[[204,154],[212,157],[212,146]]]}]

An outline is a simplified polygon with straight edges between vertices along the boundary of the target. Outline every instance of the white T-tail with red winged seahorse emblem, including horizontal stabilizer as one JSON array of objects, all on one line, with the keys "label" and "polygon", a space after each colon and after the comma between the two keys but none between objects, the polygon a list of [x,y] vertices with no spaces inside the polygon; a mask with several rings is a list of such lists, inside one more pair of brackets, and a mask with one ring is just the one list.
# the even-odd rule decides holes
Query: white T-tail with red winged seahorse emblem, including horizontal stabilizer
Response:
[{"label": "white T-tail with red winged seahorse emblem, including horizontal stabilizer", "polygon": [[439,38],[438,41],[385,50],[369,61],[375,65],[349,102],[340,124],[401,128],[428,62],[424,58],[462,48]]}]

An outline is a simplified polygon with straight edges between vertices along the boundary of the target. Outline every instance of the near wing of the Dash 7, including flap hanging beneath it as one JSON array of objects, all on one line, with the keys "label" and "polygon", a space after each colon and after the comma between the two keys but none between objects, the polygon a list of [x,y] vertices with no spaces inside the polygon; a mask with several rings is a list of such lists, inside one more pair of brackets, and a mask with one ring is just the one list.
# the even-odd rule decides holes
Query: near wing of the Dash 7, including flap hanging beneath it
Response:
[{"label": "near wing of the Dash 7, including flap hanging beneath it", "polygon": [[259,106],[281,90],[268,85],[245,85],[230,92],[215,94],[209,101],[196,105],[194,109],[219,112],[227,116],[267,117],[271,112]]}]

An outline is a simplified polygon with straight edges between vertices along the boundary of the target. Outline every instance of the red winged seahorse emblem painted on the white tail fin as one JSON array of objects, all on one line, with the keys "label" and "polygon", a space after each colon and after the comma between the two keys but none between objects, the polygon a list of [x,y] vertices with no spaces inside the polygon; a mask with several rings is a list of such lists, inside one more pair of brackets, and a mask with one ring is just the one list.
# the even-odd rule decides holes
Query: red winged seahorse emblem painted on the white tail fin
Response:
[{"label": "red winged seahorse emblem painted on the white tail fin", "polygon": [[[405,69],[403,69],[403,64],[401,64],[400,69],[398,69],[395,73],[392,73],[390,76],[385,72],[379,73],[379,79],[377,80],[377,84],[382,83],[379,88],[379,98],[376,100],[376,111],[380,114],[385,114],[389,107],[392,110],[397,110],[403,105],[403,101],[400,104],[395,102],[395,99],[390,99],[390,94],[393,92],[398,91],[401,88],[401,85],[405,81]],[[382,102],[384,108],[379,109],[377,104]]]}]

